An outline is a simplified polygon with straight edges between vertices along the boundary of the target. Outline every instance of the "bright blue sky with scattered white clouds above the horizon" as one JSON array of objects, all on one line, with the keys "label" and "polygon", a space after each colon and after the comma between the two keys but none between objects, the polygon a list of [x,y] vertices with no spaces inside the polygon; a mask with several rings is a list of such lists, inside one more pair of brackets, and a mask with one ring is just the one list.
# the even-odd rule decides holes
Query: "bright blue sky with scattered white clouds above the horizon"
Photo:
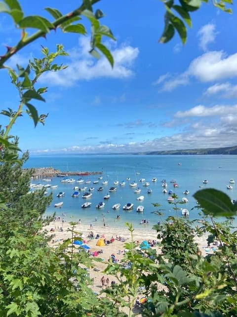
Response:
[{"label": "bright blue sky with scattered white clouds above the horizon", "polygon": [[[76,8],[73,0],[19,2],[25,15],[49,20],[45,7],[63,14]],[[88,53],[90,27],[84,18],[86,36],[57,29],[7,61],[13,68],[26,66],[29,59],[41,57],[41,46],[53,52],[56,44],[69,53],[57,60],[68,66],[65,70],[47,73],[37,83],[37,88],[47,87],[46,102],[33,103],[39,114],[48,113],[45,125],[35,128],[24,114],[11,130],[22,151],[122,154],[237,145],[235,5],[228,14],[212,1],[203,3],[191,14],[185,45],[177,34],[167,44],[158,42],[165,12],[160,0],[101,0],[94,8],[104,12],[100,23],[116,38],[103,41],[114,56],[113,69],[103,56],[97,60]],[[19,36],[10,17],[1,13],[0,55]],[[1,70],[0,82],[1,110],[17,109],[19,95],[6,70]],[[2,126],[7,119],[1,117]]]}]

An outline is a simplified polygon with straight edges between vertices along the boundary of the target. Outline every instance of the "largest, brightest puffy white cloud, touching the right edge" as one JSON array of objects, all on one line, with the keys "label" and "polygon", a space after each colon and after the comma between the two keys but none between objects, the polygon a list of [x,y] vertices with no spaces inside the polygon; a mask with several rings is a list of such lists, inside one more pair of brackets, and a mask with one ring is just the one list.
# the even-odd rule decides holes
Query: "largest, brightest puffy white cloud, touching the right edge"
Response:
[{"label": "largest, brightest puffy white cloud, touching the right edge", "polygon": [[171,91],[178,86],[188,85],[192,77],[201,82],[212,82],[236,76],[237,53],[227,56],[223,51],[213,51],[195,58],[190,63],[188,69],[181,74],[176,76],[169,75],[169,77],[166,74],[161,75],[156,83],[163,83],[161,87],[162,91]]}]

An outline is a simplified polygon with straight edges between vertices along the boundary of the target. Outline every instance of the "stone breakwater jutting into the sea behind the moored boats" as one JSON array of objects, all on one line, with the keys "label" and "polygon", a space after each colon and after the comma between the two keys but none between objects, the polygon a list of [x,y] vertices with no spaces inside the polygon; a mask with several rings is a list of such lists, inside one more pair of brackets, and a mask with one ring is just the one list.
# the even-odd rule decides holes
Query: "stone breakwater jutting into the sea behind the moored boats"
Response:
[{"label": "stone breakwater jutting into the sea behind the moored boats", "polygon": [[[61,171],[59,169],[54,169],[53,167],[34,167],[33,169],[33,177],[41,178],[41,177],[54,177],[54,176],[71,176],[71,175],[98,175],[102,174],[100,171]],[[29,171],[31,168],[23,168],[24,171]]]}]

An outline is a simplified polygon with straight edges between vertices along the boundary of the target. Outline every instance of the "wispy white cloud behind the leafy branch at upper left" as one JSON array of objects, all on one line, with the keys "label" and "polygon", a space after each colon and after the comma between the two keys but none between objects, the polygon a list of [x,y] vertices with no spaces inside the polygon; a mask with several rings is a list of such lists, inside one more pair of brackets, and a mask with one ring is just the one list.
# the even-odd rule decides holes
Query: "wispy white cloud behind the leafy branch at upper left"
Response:
[{"label": "wispy white cloud behind the leafy branch at upper left", "polygon": [[134,76],[132,69],[139,50],[129,45],[121,45],[111,51],[114,57],[114,68],[108,60],[102,56],[96,60],[88,51],[89,39],[81,38],[79,48],[70,52],[72,58],[68,68],[57,73],[46,73],[41,81],[50,81],[51,85],[74,86],[80,80],[92,80],[96,78],[130,78]]}]

